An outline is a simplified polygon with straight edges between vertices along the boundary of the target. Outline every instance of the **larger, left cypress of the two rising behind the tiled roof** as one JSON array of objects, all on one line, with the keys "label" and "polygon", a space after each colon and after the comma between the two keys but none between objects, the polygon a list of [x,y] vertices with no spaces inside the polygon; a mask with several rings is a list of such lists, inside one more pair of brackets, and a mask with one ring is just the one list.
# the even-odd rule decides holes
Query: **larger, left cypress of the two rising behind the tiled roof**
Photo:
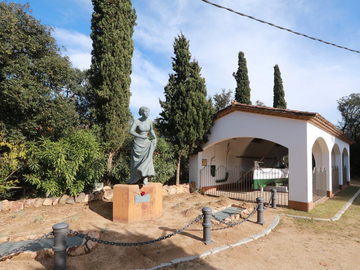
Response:
[{"label": "larger, left cypress of the two rising behind the tiled roof", "polygon": [[250,100],[250,81],[244,53],[239,51],[238,71],[233,73],[236,80],[235,100],[243,104],[252,104]]}]

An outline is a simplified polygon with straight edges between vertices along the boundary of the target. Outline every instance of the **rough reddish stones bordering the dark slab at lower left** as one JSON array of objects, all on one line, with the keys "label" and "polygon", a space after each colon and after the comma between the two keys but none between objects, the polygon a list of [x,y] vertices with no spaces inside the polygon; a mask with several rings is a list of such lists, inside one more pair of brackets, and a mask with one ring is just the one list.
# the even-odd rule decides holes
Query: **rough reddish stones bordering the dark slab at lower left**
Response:
[{"label": "rough reddish stones bordering the dark slab at lower left", "polygon": [[[93,238],[100,238],[100,234],[95,231],[79,231],[79,233],[87,234]],[[73,236],[71,233],[68,233],[67,236]],[[17,241],[24,241],[24,240],[35,240],[41,238],[42,234],[35,234],[29,236],[20,236],[20,237],[1,237],[0,243],[4,242],[17,242]],[[53,236],[49,236],[48,238],[53,238]],[[66,249],[66,253],[69,256],[78,256],[89,253],[90,251],[94,250],[98,246],[98,242],[93,242],[84,239],[80,246],[73,246],[68,247]],[[33,259],[42,259],[42,258],[54,258],[54,251],[49,248],[46,250],[39,250],[39,251],[24,251],[14,253],[5,257],[2,257],[0,261],[7,261],[7,260],[33,260]]]}]

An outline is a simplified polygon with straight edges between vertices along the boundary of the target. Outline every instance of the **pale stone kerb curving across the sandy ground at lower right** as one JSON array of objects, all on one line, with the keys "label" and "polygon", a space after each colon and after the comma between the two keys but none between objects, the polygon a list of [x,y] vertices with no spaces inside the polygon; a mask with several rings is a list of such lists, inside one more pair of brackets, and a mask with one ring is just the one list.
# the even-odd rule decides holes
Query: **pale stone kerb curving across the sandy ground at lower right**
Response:
[{"label": "pale stone kerb curving across the sandy ground at lower right", "polygon": [[[336,221],[338,220],[341,215],[343,213],[341,213],[342,210],[344,210],[344,208],[346,207],[345,210],[348,209],[348,207],[352,204],[352,202],[355,200],[355,198],[357,196],[359,196],[360,194],[360,189],[355,193],[354,196],[352,196],[350,198],[350,200],[345,204],[345,206],[333,217],[333,218],[330,218],[330,219],[320,219],[320,218],[310,218],[310,217],[306,217],[306,216],[294,216],[294,215],[283,215],[283,216],[289,216],[289,217],[292,217],[292,218],[300,218],[300,219],[312,219],[312,220],[321,220],[321,221]],[[344,211],[345,211],[344,210]],[[243,244],[246,244],[246,243],[249,243],[251,241],[254,241],[260,237],[263,237],[267,234],[269,234],[271,232],[271,230],[273,230],[278,224],[279,224],[279,220],[280,220],[280,215],[275,215],[274,216],[274,219],[273,221],[270,223],[269,226],[267,226],[267,229],[265,230],[262,230],[261,232],[259,232],[258,234],[254,234],[254,235],[251,235],[250,238],[243,238],[241,239],[239,242],[237,243],[234,243],[234,244],[228,244],[228,245],[222,245],[221,247],[214,247],[212,248],[210,251],[204,251],[202,254],[200,255],[195,255],[195,256],[190,256],[190,257],[183,257],[183,258],[179,258],[179,259],[175,259],[175,260],[171,260],[171,263],[162,263],[160,265],[157,265],[157,266],[154,266],[152,268],[149,268],[149,269],[141,269],[141,270],[155,270],[155,269],[160,269],[162,267],[165,267],[165,266],[170,266],[172,264],[177,264],[179,262],[184,262],[184,261],[191,261],[191,260],[195,260],[197,258],[203,258],[203,257],[206,257],[208,255],[211,255],[211,254],[215,254],[217,252],[220,252],[220,251],[223,251],[223,250],[226,250],[230,247],[237,247],[237,246],[241,246]],[[135,270],[135,269],[133,269]]]}]

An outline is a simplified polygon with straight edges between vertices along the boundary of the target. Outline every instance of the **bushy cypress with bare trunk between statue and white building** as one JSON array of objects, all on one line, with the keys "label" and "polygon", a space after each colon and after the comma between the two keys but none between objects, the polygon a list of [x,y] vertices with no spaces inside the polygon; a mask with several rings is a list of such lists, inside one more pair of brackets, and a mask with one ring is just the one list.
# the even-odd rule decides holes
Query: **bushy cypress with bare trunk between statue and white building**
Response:
[{"label": "bushy cypress with bare trunk between statue and white building", "polygon": [[162,134],[172,141],[177,153],[176,184],[180,182],[181,156],[202,151],[199,145],[207,142],[213,115],[199,63],[191,61],[189,41],[180,33],[174,41],[175,57],[171,58],[174,73],[169,74],[164,87],[165,101],[159,100],[163,111],[158,119]]}]

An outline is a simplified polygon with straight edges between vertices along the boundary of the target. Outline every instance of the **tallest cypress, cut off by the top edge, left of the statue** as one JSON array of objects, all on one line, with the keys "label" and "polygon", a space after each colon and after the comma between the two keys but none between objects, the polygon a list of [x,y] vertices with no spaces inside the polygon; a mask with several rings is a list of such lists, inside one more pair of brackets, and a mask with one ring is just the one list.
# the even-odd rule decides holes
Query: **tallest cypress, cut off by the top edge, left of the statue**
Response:
[{"label": "tallest cypress, cut off by the top edge, left of the statue", "polygon": [[134,53],[132,33],[136,25],[131,0],[92,0],[90,84],[93,87],[95,119],[104,142],[110,146],[108,178],[114,154],[122,146],[131,117],[130,74]]}]

